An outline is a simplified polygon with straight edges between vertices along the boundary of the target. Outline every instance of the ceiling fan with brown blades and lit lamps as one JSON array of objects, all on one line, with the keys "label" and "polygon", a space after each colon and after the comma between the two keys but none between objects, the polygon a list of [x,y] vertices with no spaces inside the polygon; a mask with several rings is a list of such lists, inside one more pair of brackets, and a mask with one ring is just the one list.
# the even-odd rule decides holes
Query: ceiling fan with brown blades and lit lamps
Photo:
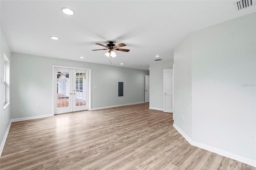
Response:
[{"label": "ceiling fan with brown blades and lit lamps", "polygon": [[116,57],[116,53],[114,52],[114,50],[125,51],[125,52],[130,51],[130,49],[120,48],[120,47],[126,46],[124,43],[120,43],[120,44],[116,45],[116,44],[114,44],[114,42],[110,41],[110,42],[108,42],[107,45],[102,45],[100,43],[96,43],[96,44],[101,45],[101,46],[106,47],[106,48],[104,48],[104,49],[93,49],[92,51],[109,49],[109,51],[107,53],[105,53],[105,55],[108,56],[108,57],[112,57],[112,58]]}]

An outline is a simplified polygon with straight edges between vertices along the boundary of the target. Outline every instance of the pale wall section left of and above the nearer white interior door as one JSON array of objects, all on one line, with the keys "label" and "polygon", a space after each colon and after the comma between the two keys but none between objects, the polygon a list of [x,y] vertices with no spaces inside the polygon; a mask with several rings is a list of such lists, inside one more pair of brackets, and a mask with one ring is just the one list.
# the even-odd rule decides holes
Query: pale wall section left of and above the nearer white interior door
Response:
[{"label": "pale wall section left of and above the nearer white interior door", "polygon": [[150,64],[149,107],[163,110],[164,69],[172,69],[173,61],[156,61]]}]

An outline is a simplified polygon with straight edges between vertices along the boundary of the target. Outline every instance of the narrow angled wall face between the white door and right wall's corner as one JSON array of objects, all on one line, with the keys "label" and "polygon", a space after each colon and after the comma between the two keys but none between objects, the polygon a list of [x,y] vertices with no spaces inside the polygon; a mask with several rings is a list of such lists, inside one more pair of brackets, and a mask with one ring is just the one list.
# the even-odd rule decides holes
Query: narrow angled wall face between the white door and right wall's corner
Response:
[{"label": "narrow angled wall face between the white door and right wall's corner", "polygon": [[[191,35],[174,49],[174,123],[192,137]],[[176,125],[177,125],[176,124]]]}]

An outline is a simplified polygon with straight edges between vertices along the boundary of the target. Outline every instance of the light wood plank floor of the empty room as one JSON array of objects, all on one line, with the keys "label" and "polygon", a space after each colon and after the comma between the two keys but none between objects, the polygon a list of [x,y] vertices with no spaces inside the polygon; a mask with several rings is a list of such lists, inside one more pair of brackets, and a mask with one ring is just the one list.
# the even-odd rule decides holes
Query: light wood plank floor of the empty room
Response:
[{"label": "light wood plank floor of the empty room", "polygon": [[12,123],[1,170],[255,170],[191,146],[148,104]]}]

